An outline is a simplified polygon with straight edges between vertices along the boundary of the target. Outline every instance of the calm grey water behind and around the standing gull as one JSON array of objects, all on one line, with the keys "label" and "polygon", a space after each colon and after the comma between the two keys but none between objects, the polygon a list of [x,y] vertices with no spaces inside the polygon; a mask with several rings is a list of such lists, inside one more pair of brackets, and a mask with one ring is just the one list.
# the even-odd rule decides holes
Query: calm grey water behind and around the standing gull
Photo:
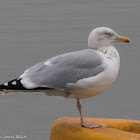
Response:
[{"label": "calm grey water behind and around the standing gull", "polygon": [[[103,94],[81,101],[83,114],[139,120],[139,0],[0,0],[0,83],[40,61],[87,48],[90,31],[99,26],[112,28],[132,43],[115,44],[121,57],[118,78]],[[49,140],[51,126],[60,117],[79,117],[74,99],[0,94],[0,140]]]}]

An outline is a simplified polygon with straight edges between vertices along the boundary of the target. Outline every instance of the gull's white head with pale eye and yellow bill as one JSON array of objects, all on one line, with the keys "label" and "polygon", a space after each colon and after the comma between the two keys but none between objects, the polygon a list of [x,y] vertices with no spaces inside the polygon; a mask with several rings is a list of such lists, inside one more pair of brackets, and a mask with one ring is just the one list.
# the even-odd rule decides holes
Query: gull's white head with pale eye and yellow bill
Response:
[{"label": "gull's white head with pale eye and yellow bill", "polygon": [[115,31],[108,27],[95,28],[88,37],[88,45],[92,49],[112,46],[114,42],[130,43],[130,39],[119,36]]}]

